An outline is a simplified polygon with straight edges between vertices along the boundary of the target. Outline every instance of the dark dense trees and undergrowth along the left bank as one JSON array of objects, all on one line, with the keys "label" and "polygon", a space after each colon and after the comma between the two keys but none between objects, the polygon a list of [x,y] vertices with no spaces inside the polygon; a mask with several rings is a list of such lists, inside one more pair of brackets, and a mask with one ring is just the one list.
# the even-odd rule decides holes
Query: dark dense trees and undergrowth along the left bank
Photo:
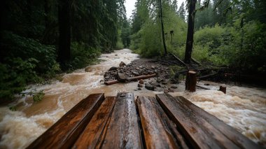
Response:
[{"label": "dark dense trees and undergrowth along the left bank", "polygon": [[124,3],[1,1],[0,99],[13,99],[29,83],[43,83],[56,73],[92,64],[101,52],[115,50],[118,41],[123,46]]}]

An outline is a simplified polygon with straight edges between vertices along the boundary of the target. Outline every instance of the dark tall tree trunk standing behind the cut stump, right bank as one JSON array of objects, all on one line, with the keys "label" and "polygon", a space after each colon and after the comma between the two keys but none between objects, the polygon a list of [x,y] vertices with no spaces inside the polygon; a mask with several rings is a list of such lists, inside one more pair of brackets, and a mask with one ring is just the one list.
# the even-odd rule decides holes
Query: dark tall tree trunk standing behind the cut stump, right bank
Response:
[{"label": "dark tall tree trunk standing behind the cut stump, right bank", "polygon": [[194,35],[194,20],[195,20],[195,7],[197,0],[189,0],[188,6],[188,35],[186,41],[186,54],[185,54],[185,62],[186,64],[190,64],[191,54],[193,50],[193,35]]}]

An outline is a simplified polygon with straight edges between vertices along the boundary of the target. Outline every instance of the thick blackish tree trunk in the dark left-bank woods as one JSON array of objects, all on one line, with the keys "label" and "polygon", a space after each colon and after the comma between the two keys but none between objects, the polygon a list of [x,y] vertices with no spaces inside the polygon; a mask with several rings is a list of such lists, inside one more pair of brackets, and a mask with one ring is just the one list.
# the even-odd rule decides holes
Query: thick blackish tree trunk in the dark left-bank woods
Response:
[{"label": "thick blackish tree trunk in the dark left-bank woods", "polygon": [[71,26],[70,26],[70,0],[59,0],[58,5],[59,23],[59,47],[58,62],[63,69],[70,59]]}]

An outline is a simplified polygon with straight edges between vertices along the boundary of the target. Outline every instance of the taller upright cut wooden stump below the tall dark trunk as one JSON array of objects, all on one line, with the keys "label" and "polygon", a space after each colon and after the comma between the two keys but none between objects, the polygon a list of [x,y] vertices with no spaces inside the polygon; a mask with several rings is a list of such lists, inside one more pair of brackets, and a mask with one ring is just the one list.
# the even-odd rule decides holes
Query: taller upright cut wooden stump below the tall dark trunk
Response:
[{"label": "taller upright cut wooden stump below the tall dark trunk", "polygon": [[197,83],[196,72],[188,71],[186,78],[186,90],[189,90],[190,92],[195,92],[196,83]]}]

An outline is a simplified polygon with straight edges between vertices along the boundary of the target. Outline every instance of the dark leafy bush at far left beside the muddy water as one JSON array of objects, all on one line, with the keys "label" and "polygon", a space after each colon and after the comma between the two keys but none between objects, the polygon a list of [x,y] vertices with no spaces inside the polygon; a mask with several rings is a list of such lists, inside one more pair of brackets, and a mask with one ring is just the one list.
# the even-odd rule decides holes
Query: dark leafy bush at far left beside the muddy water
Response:
[{"label": "dark leafy bush at far left beside the muddy water", "polygon": [[54,46],[2,31],[0,48],[0,99],[13,99],[27,84],[41,83],[41,77],[52,78],[59,71]]}]

